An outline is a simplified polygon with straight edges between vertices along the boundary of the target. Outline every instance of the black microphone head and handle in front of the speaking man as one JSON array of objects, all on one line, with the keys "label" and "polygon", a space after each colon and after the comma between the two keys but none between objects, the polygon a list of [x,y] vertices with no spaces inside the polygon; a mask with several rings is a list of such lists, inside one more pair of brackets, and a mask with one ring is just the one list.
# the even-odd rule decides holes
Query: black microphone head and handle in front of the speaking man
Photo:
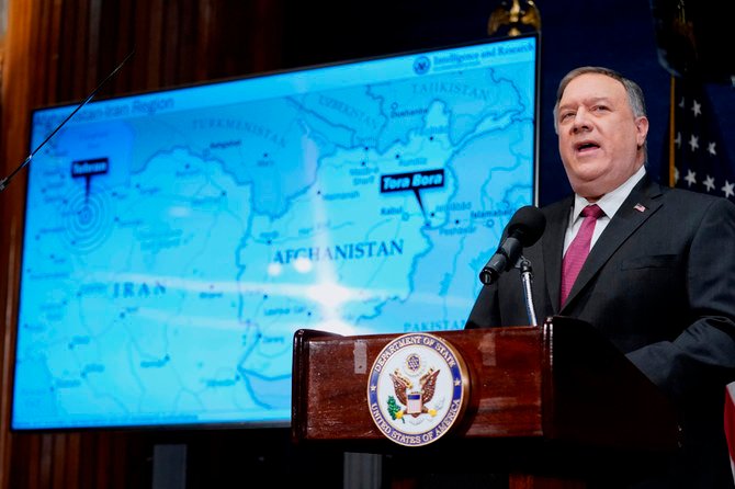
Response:
[{"label": "black microphone head and handle in front of the speaking man", "polygon": [[498,250],[479,272],[479,281],[490,285],[498,280],[502,272],[510,270],[521,251],[541,238],[546,227],[546,217],[538,207],[527,205],[513,214],[506,226],[506,239],[500,242]]}]

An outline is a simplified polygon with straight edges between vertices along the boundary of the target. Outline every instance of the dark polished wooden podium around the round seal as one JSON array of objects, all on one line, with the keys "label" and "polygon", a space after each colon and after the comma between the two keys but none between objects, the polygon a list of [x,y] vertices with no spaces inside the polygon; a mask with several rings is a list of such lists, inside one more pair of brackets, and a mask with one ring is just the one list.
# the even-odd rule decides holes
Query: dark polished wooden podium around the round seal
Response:
[{"label": "dark polished wooden podium around the round seal", "polygon": [[[493,470],[509,487],[585,488],[629,480],[666,463],[678,446],[664,395],[593,327],[551,317],[540,327],[430,332],[466,364],[462,419],[425,446],[388,440],[368,401],[371,366],[400,334],[294,334],[292,439],[309,447],[383,454],[394,487],[418,474]],[[420,467],[420,468],[418,468]]]}]

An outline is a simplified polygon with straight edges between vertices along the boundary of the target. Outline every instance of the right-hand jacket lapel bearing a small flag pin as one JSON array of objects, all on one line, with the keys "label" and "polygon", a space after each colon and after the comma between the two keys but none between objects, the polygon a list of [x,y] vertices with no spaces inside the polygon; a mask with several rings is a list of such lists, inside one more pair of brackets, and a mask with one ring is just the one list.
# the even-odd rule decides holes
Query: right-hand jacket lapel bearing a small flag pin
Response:
[{"label": "right-hand jacket lapel bearing a small flag pin", "polygon": [[[652,182],[648,177],[644,177],[643,180],[635,185],[589,252],[585,264],[579,271],[576,282],[572,286],[566,305],[574,302],[575,296],[585,288],[589,281],[599,272],[621,244],[625,242],[625,240],[627,240],[643,223],[653,216],[656,211],[658,211],[662,206],[659,200],[655,198],[658,195],[660,195],[660,187],[658,184]],[[564,237],[562,236],[562,242],[563,241]],[[561,277],[561,268],[558,276]],[[558,297],[558,295],[556,295],[556,297]],[[566,305],[565,307],[562,307],[562,312],[567,308]]]}]

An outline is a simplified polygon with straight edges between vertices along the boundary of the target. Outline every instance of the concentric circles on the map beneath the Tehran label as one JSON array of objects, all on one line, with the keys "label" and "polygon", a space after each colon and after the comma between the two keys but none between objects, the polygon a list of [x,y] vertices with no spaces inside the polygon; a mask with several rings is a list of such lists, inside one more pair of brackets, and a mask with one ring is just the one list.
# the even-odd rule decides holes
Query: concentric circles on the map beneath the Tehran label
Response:
[{"label": "concentric circles on the map beneath the Tehran label", "polygon": [[102,243],[112,230],[112,213],[106,191],[70,196],[61,211],[65,237],[72,251],[87,253]]}]

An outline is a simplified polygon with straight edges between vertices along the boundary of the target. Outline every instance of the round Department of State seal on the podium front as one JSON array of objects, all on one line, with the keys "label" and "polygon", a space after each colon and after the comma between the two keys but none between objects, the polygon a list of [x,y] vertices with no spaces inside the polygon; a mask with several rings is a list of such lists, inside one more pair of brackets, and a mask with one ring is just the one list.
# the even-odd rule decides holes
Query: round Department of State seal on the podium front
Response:
[{"label": "round Department of State seal on the podium front", "polygon": [[462,356],[433,334],[394,339],[370,371],[370,414],[377,429],[400,445],[439,440],[462,418],[468,399],[470,377]]}]

